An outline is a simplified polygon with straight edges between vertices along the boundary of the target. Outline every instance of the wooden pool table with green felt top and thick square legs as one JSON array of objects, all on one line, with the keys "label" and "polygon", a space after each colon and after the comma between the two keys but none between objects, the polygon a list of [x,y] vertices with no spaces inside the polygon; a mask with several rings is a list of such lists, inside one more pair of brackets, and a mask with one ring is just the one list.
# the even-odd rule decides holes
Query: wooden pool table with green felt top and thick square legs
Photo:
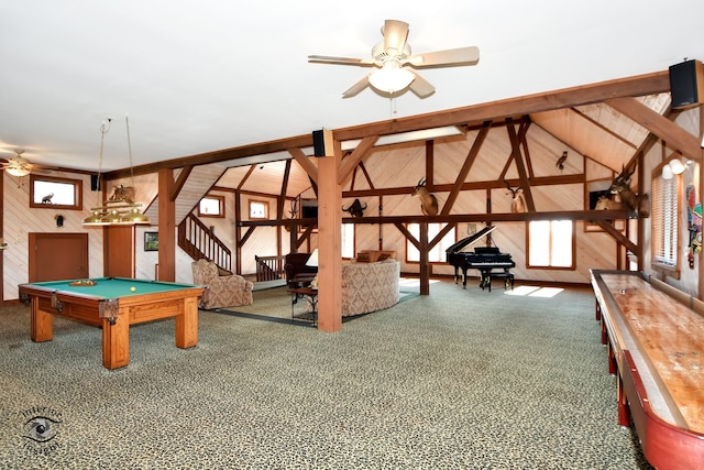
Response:
[{"label": "wooden pool table with green felt top and thick square legs", "polygon": [[31,303],[32,341],[51,341],[53,316],[102,328],[102,364],[130,363],[130,325],[176,318],[176,346],[198,343],[198,297],[204,287],[127,277],[51,281],[20,284],[20,297]]}]

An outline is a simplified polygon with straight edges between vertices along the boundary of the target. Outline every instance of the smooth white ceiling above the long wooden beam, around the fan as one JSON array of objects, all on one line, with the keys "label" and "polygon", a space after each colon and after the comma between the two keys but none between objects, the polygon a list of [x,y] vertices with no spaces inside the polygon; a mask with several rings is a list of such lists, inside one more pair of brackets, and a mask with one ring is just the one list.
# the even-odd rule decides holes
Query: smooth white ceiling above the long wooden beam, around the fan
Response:
[{"label": "smooth white ceiling above the long wooden beam, around the fan", "polygon": [[[0,0],[0,157],[98,170],[135,165],[704,59],[702,0],[432,2]],[[414,52],[476,45],[477,65],[426,69],[436,94],[341,94],[369,70],[385,19]]]}]

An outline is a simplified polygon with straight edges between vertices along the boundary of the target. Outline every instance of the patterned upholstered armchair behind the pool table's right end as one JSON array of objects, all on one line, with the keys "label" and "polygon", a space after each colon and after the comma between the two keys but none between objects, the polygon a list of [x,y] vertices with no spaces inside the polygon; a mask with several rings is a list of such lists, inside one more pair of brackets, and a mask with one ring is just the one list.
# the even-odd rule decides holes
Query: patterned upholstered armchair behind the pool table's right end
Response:
[{"label": "patterned upholstered armchair behind the pool table's right end", "polygon": [[238,274],[220,275],[212,261],[205,259],[191,264],[194,284],[205,286],[200,308],[226,308],[252,304],[254,284]]}]

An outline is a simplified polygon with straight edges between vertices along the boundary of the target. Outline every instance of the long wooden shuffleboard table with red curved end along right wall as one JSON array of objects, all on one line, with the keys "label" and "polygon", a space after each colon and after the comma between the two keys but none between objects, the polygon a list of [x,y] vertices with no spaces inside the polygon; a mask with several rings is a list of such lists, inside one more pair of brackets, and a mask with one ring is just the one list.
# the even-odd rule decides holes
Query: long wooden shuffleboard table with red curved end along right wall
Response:
[{"label": "long wooden shuffleboard table with red curved end along right wall", "polygon": [[703,468],[704,317],[639,272],[591,275],[608,370],[618,379],[618,423],[632,420],[656,468]]}]

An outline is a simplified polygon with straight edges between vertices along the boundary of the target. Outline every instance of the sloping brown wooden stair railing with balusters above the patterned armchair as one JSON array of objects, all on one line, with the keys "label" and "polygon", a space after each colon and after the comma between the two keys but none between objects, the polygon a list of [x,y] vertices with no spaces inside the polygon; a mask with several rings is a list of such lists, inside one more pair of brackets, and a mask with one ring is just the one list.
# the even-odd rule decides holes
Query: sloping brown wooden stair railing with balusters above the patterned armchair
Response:
[{"label": "sloping brown wooden stair railing with balusters above the patterned armchair", "polygon": [[232,273],[232,252],[193,214],[178,225],[178,247],[196,261],[205,258]]}]

